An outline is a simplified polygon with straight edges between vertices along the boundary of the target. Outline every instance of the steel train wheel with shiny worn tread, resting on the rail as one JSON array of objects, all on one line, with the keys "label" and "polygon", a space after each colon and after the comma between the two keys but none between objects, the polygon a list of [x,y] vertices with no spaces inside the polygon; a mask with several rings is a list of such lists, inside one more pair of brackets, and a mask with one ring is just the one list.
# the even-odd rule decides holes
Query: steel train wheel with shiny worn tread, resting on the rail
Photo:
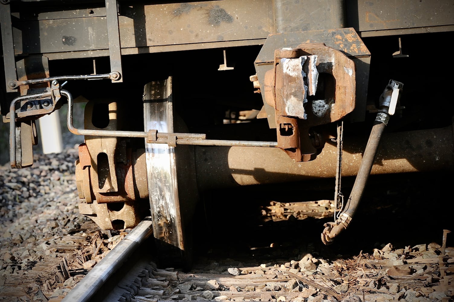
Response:
[{"label": "steel train wheel with shiny worn tread, resting on the rail", "polygon": [[[177,122],[173,114],[171,77],[145,85],[143,109],[145,131],[184,131],[183,123]],[[191,220],[198,197],[193,146],[171,147],[145,141],[145,152],[158,257],[166,265],[190,267]]]}]

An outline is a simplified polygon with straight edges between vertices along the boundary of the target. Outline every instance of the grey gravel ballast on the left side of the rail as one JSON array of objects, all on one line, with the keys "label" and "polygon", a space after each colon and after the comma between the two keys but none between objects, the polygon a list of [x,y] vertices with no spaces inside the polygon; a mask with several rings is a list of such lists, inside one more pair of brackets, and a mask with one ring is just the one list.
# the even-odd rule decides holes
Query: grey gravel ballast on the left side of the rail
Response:
[{"label": "grey gravel ballast on the left side of the rail", "polygon": [[79,214],[77,158],[69,148],[0,166],[0,301],[58,301],[126,234]]}]

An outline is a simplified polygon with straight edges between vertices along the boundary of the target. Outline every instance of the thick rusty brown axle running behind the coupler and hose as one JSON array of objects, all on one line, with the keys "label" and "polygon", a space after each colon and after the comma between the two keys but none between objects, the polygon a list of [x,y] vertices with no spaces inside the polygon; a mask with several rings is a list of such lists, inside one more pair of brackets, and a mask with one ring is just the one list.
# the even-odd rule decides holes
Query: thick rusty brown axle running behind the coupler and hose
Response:
[{"label": "thick rusty brown axle running behind the coupler and hose", "polygon": [[[344,136],[343,146],[342,176],[354,176],[365,141]],[[453,150],[452,127],[384,134],[371,174],[452,173]],[[196,147],[197,182],[202,189],[334,178],[336,165],[334,143],[305,163],[295,162],[280,149]]]}]

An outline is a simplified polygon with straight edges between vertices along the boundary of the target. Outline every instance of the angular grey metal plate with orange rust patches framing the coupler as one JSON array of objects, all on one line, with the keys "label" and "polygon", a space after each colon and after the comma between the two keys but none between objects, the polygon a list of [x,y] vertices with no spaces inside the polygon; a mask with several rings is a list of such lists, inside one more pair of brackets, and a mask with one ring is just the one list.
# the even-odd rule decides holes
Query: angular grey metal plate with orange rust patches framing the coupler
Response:
[{"label": "angular grey metal plate with orange rust patches framing the coupler", "polygon": [[[336,30],[311,30],[299,33],[274,34],[268,36],[262,50],[255,60],[257,78],[261,91],[265,91],[265,74],[274,68],[274,51],[281,48],[296,49],[301,43],[324,43],[333,50],[339,50],[355,63],[356,102],[355,111],[350,114],[352,121],[364,119],[369,81],[370,52],[353,28]],[[268,124],[276,128],[274,108],[268,104],[265,95],[263,102],[268,116]]]}]

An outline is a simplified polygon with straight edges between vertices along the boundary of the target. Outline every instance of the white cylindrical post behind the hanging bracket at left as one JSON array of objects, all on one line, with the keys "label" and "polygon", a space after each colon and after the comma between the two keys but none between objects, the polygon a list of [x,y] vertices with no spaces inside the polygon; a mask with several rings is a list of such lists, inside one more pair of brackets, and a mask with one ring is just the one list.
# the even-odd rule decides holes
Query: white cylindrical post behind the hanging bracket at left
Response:
[{"label": "white cylindrical post behind the hanging bracket at left", "polygon": [[63,151],[61,126],[58,110],[39,118],[39,133],[43,153],[60,153]]}]

